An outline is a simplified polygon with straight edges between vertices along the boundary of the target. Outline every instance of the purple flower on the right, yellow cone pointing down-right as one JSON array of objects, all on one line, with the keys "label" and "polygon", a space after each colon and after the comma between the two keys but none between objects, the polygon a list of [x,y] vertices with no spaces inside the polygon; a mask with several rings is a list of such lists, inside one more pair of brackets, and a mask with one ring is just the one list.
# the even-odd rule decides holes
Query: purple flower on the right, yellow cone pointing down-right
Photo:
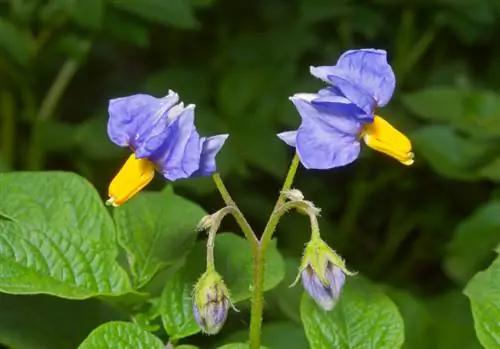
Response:
[{"label": "purple flower on the right, yellow cone pointing down-right", "polygon": [[278,134],[296,148],[304,167],[329,169],[353,162],[361,138],[405,165],[413,163],[408,138],[375,115],[375,108],[389,102],[396,85],[385,51],[347,51],[334,66],[311,67],[311,74],[332,86],[290,97],[302,123],[297,131]]}]

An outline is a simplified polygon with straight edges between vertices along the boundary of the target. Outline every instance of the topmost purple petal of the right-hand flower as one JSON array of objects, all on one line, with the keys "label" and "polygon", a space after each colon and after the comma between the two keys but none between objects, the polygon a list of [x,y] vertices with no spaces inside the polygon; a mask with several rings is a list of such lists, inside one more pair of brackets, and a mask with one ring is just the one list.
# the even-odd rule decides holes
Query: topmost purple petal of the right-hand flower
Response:
[{"label": "topmost purple petal of the right-hand flower", "polygon": [[336,85],[360,108],[366,110],[370,98],[383,107],[392,97],[396,77],[384,50],[350,50],[335,66],[311,67],[311,74]]}]

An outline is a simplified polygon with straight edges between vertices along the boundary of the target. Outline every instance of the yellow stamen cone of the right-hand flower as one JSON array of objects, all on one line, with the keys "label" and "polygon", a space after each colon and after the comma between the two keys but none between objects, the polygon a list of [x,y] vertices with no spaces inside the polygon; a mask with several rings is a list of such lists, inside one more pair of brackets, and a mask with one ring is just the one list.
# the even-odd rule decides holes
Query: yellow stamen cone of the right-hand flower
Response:
[{"label": "yellow stamen cone of the right-hand flower", "polygon": [[403,165],[413,164],[410,140],[382,117],[375,115],[373,122],[363,128],[362,136],[370,148],[395,158]]}]

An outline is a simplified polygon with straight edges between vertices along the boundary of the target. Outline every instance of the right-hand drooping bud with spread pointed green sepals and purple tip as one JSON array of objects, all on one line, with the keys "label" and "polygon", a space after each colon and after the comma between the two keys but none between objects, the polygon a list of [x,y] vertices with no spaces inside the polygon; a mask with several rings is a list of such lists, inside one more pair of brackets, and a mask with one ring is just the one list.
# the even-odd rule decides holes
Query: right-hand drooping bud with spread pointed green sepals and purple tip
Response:
[{"label": "right-hand drooping bud with spread pointed green sepals and purple tip", "polygon": [[313,237],[304,250],[300,273],[307,293],[325,310],[332,310],[340,297],[346,275],[353,275],[344,261],[319,236]]}]

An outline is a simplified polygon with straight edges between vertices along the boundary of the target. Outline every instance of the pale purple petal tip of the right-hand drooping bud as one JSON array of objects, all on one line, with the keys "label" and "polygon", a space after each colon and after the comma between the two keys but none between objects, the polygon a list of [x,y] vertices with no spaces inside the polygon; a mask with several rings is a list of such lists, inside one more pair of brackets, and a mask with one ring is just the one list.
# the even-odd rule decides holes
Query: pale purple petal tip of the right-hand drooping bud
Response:
[{"label": "pale purple petal tip of the right-hand drooping bud", "polygon": [[326,283],[314,273],[311,265],[302,270],[302,284],[316,303],[325,310],[332,310],[340,297],[340,291],[345,283],[345,274],[342,269],[331,262],[327,263],[324,279]]}]

